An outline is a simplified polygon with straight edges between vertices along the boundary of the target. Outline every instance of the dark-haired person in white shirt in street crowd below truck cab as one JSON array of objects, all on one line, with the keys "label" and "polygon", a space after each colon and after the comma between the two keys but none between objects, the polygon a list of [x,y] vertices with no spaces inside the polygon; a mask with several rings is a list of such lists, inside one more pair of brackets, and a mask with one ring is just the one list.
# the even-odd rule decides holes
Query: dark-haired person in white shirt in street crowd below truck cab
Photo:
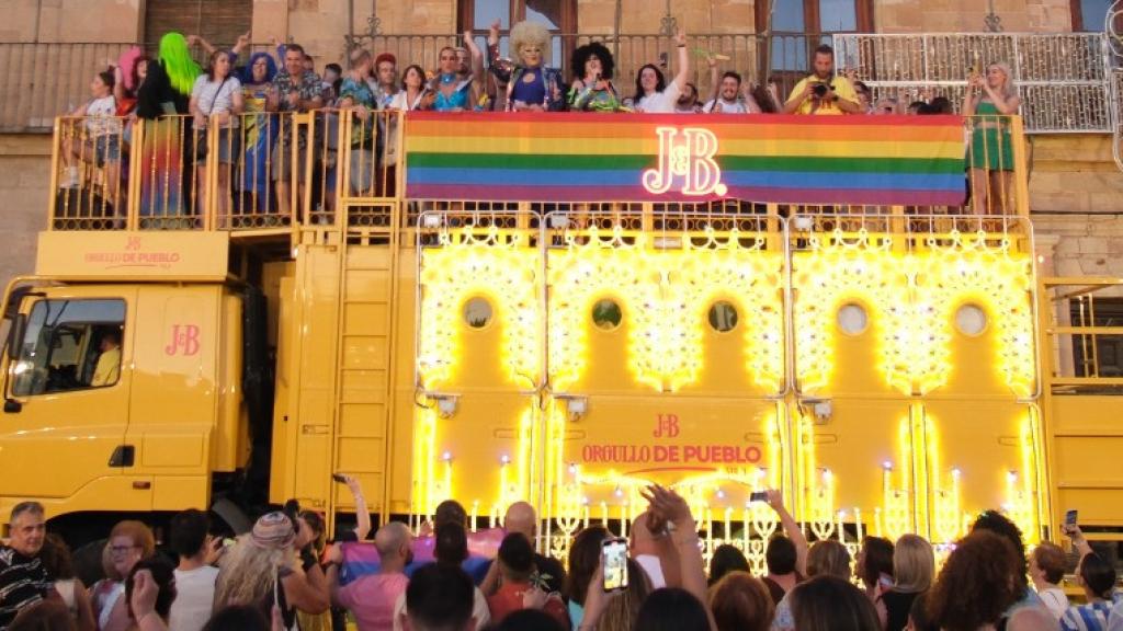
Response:
[{"label": "dark-haired person in white shirt in street crowd below truck cab", "polygon": [[168,628],[175,631],[201,631],[210,620],[214,603],[218,568],[211,565],[221,552],[221,539],[208,534],[207,513],[190,509],[172,518],[172,549],[180,556],[175,568],[175,601]]}]

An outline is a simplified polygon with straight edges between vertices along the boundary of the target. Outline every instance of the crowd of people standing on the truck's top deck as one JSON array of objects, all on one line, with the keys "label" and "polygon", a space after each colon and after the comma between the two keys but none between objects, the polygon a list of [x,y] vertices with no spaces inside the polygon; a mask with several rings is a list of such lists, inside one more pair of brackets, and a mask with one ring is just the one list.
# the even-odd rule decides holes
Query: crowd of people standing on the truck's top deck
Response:
[{"label": "crowd of people standing on the truck's top deck", "polygon": [[[837,71],[834,52],[827,45],[814,51],[810,74],[785,98],[773,81],[761,85],[732,68],[723,71],[720,62],[727,57],[712,53],[705,54],[711,88],[709,94],[702,94],[690,81],[692,54],[682,31],[673,38],[675,74],[669,75],[663,56],[661,63],[639,70],[633,90],[626,89],[622,77],[617,76],[611,51],[596,42],[573,51],[569,76],[547,65],[550,33],[535,21],[511,28],[513,58],[501,55],[496,21],[490,28],[486,51],[466,33],[463,46],[439,52],[438,66],[431,72],[404,61],[400,65],[391,53],[356,48],[349,54],[348,67],[331,63],[320,74],[299,44],[279,45],[275,54],[255,52],[246,57],[249,42],[246,34],[229,49],[219,49],[198,36],[170,33],[161,39],[155,57],[134,49],[115,67],[99,72],[91,83],[90,99],[71,112],[82,117],[83,127],[64,137],[60,188],[80,186],[81,166],[91,165],[101,171],[102,196],[119,205],[128,191],[122,186],[128,173],[122,163],[130,154],[130,121],[136,118],[152,121],[145,153],[156,156],[150,167],[144,168],[150,177],[140,186],[141,216],[201,213],[208,200],[213,200],[220,216],[231,211],[289,216],[293,195],[300,199],[305,184],[320,189],[336,185],[335,130],[340,113],[355,120],[347,185],[353,194],[367,196],[394,194],[396,120],[374,116],[380,111],[952,112],[951,102],[943,97],[907,107],[891,98],[875,101],[869,86],[853,73]],[[203,55],[207,63],[200,67],[193,58]],[[245,63],[239,65],[241,61]],[[984,213],[988,203],[994,205],[993,200],[988,202],[988,190],[1005,196],[1002,193],[1012,189],[1013,149],[1006,118],[1017,112],[1020,101],[1005,64],[979,68],[968,82],[960,112],[986,117],[976,126],[967,150],[973,209]],[[314,138],[304,129],[294,131],[286,118],[277,116],[320,110],[331,113],[322,126],[327,132]],[[217,137],[209,138],[209,132]],[[209,155],[212,150],[214,156]],[[313,176],[305,182],[309,177],[302,166],[310,152]],[[217,179],[207,176],[212,159],[218,162]],[[207,190],[211,180],[218,194]],[[330,203],[329,195],[313,194],[313,199]]]}]

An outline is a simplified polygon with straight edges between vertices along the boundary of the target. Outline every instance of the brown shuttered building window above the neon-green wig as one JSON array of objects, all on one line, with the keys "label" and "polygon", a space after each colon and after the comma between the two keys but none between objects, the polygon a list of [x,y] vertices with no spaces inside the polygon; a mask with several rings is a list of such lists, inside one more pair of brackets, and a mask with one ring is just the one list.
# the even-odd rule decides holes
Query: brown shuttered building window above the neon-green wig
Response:
[{"label": "brown shuttered building window above the neon-green wig", "polygon": [[159,38],[175,30],[199,35],[220,48],[229,48],[253,26],[254,0],[147,0],[144,3],[144,39],[155,52]]}]

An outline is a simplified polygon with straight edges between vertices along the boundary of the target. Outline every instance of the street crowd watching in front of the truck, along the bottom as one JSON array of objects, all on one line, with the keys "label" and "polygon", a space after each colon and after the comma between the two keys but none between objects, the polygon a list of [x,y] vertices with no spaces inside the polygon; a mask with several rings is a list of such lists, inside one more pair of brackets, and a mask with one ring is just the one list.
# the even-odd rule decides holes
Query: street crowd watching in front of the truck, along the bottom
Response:
[{"label": "street crowd watching in front of the truck, along the bottom", "polygon": [[1063,532],[1079,558],[1083,604],[1059,587],[1066,552],[1042,542],[1026,556],[1017,527],[994,511],[978,516],[937,573],[932,545],[915,534],[865,537],[852,559],[837,539],[809,545],[782,494],[768,491],[779,528],[765,549],[767,571],[754,576],[728,543],[706,568],[687,503],[660,486],[646,490],[629,541],[587,525],[563,564],[536,550],[539,520],[524,502],[509,507],[502,529],[469,533],[464,507],[448,500],[421,532],[390,521],[366,542],[362,488],[344,481],[359,520],[334,543],[322,516],[293,502],[237,539],[212,537],[207,513],[184,511],[168,527],[174,559],[147,525],[122,521],[103,548],[104,578],[89,591],[65,542],[46,534],[43,506],[19,504],[0,547],[0,630],[1123,629],[1114,566],[1076,524]]}]

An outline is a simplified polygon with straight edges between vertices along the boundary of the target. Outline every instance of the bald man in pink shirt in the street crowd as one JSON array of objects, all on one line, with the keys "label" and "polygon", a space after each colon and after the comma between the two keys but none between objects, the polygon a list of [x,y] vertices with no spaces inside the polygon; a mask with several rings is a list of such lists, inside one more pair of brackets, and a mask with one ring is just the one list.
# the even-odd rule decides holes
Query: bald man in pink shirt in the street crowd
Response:
[{"label": "bald man in pink shirt in the street crowd", "polygon": [[404,523],[392,521],[375,533],[374,547],[381,563],[378,573],[340,587],[343,551],[332,546],[328,552],[328,585],[332,604],[350,611],[359,631],[390,631],[394,628],[394,604],[410,582],[405,566],[413,560],[413,536]]}]

